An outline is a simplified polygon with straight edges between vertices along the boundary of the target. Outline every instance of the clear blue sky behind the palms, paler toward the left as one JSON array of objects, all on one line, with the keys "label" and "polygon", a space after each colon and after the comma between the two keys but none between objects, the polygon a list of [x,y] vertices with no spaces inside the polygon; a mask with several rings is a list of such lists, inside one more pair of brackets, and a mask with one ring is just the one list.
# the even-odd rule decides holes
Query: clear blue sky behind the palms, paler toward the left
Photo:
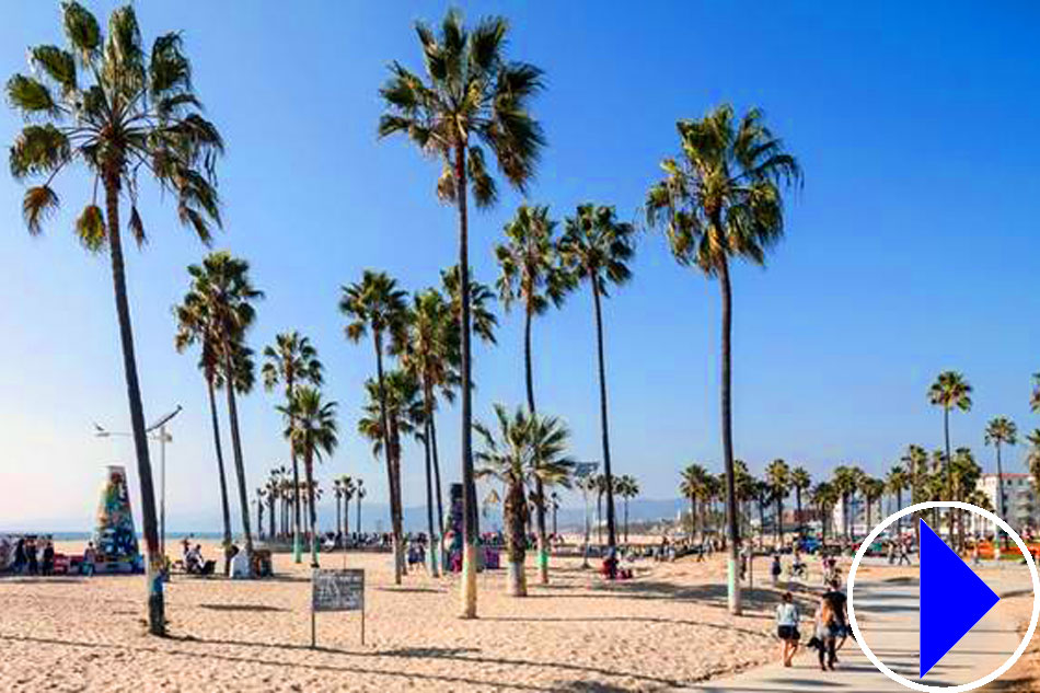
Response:
[{"label": "clear blue sky behind the palms, paler toward the left", "polygon": [[[343,338],[339,286],[375,267],[421,289],[455,253],[436,165],[375,138],[388,61],[418,68],[412,22],[437,21],[447,7],[404,5],[138,5],[147,41],[184,31],[197,91],[227,139],[216,247],[247,257],[267,293],[252,344],[287,328],[311,335],[344,432],[321,476],[363,476],[377,501],[381,465],[355,432],[373,356]],[[106,15],[114,3],[89,7]],[[721,102],[764,108],[800,158],[806,185],[790,199],[787,240],[767,269],[735,272],[735,434],[752,470],[781,457],[818,475],[837,463],[881,474],[906,443],[937,447],[940,416],[925,391],[949,368],[975,388],[972,412],[954,417],[955,443],[987,466],[986,419],[1040,424],[1027,408],[1028,377],[1040,370],[1035,4],[461,7],[471,18],[507,15],[509,54],[547,73],[534,112],[550,145],[529,199],[557,217],[592,200],[636,218],[658,162],[677,149],[675,120]],[[8,4],[0,74],[25,71],[26,46],[60,39],[57,2]],[[0,140],[18,127],[0,109]],[[66,176],[57,190],[61,213],[31,239],[22,188],[0,176],[0,527],[85,524],[101,465],[132,466],[129,446],[91,437],[92,420],[128,419],[111,275],[106,258],[71,238],[84,178]],[[471,256],[485,281],[520,201],[505,194],[473,217]],[[205,390],[195,356],[172,348],[170,314],[184,267],[205,249],[170,200],[150,194],[143,216],[151,242],[127,254],[127,269],[147,417],[185,407],[169,449],[176,527],[218,507]],[[638,476],[646,496],[671,497],[681,466],[719,464],[718,287],[680,268],[652,233],[634,275],[605,307],[615,472]],[[498,348],[477,348],[478,416],[522,401],[518,325],[519,315],[504,316]],[[569,421],[577,457],[598,459],[587,292],[536,324],[534,348],[540,408]],[[274,404],[257,391],[241,407],[251,489],[287,457]],[[457,412],[442,416],[449,478],[458,428]],[[418,504],[421,455],[405,454],[405,501]],[[1015,470],[1019,453],[1008,458]]]}]

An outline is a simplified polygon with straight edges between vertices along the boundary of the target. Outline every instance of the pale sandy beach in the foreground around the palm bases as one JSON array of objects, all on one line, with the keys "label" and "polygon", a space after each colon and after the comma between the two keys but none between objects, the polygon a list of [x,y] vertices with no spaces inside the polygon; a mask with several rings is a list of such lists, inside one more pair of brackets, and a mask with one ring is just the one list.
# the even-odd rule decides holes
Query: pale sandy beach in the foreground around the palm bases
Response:
[{"label": "pale sandy beach in the foreground around the palm bases", "polygon": [[287,555],[273,580],[175,577],[165,640],[145,635],[141,577],[0,580],[0,689],[646,691],[774,650],[775,593],[755,590],[747,614],[729,616],[719,559],[637,563],[614,585],[558,561],[553,584],[532,584],[527,599],[506,596],[504,571],[484,574],[476,621],[455,617],[454,577],[414,574],[395,588],[386,555],[346,563],[367,571],[367,644],[356,614],[320,614],[316,651],[308,569]]}]

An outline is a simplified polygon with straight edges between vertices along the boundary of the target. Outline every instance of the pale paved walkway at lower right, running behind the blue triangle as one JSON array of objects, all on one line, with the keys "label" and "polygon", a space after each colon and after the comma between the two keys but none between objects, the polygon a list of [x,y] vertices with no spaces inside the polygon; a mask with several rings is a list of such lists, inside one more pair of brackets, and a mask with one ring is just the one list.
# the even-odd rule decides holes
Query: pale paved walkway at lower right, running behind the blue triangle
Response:
[{"label": "pale paved walkway at lower right, running behind the blue triangle", "polygon": [[[993,574],[982,576],[997,592],[1009,586]],[[874,654],[890,669],[917,679],[917,581],[879,580],[856,585],[856,620]],[[952,608],[952,605],[951,605]],[[802,626],[802,642],[810,624]],[[1015,623],[997,605],[972,628],[922,680],[929,685],[958,685],[986,675],[1019,644]],[[778,649],[778,648],[777,648]],[[908,689],[882,674],[850,638],[839,652],[836,671],[820,671],[816,650],[802,651],[791,668],[767,666],[743,674],[709,681],[686,691],[759,693],[760,691],[842,691],[903,693]]]}]

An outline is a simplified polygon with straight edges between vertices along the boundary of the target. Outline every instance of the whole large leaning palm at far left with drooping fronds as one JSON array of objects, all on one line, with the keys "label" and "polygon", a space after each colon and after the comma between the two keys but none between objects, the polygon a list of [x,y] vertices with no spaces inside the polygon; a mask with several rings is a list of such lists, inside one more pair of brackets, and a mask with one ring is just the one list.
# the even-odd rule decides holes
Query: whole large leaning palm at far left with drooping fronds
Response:
[{"label": "whole large leaning palm at far left with drooping fronds", "polygon": [[[176,196],[181,222],[208,243],[211,223],[220,226],[216,163],[223,152],[217,128],[199,115],[192,90],[190,63],[180,33],[155,38],[151,53],[141,39],[137,15],[127,5],[113,11],[105,36],[97,20],[77,2],[62,3],[67,48],[36,46],[28,58],[36,76],[15,74],[7,83],[8,101],[26,125],[10,151],[18,181],[38,180],[25,190],[22,211],[28,232],[37,235],[58,208],[51,187],[70,164],[82,163],[94,190],[76,220],[76,235],[94,253],[107,250],[112,266],[123,369],[130,427],[141,489],[141,512],[148,554],[148,630],[165,633],[163,567],[155,521],[145,411],[137,373],[130,304],[127,297],[119,226],[120,198],[129,205],[128,230],[145,243],[138,212],[139,176]],[[104,211],[97,192],[104,194]],[[247,510],[249,508],[246,508]]]}]

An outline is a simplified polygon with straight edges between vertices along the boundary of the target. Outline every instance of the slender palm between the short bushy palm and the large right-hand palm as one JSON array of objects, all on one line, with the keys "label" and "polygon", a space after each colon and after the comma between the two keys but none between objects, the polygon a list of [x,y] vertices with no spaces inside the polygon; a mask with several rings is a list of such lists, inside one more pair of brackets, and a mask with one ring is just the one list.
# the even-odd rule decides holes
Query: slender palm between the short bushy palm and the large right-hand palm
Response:
[{"label": "slender palm between the short bushy palm and the large right-hand palm", "polygon": [[[613,207],[580,205],[574,217],[568,217],[566,231],[557,244],[563,265],[574,280],[588,280],[592,288],[592,309],[596,314],[596,348],[600,380],[600,430],[603,442],[603,476],[606,484],[606,544],[613,551],[616,543],[614,528],[614,481],[610,459],[610,432],[606,416],[606,367],[603,358],[603,314],[600,305],[609,297],[606,285],[621,286],[632,277],[628,263],[635,254],[635,228],[617,221]],[[613,566],[613,563],[611,564]],[[611,578],[614,576],[611,575]]]}]

